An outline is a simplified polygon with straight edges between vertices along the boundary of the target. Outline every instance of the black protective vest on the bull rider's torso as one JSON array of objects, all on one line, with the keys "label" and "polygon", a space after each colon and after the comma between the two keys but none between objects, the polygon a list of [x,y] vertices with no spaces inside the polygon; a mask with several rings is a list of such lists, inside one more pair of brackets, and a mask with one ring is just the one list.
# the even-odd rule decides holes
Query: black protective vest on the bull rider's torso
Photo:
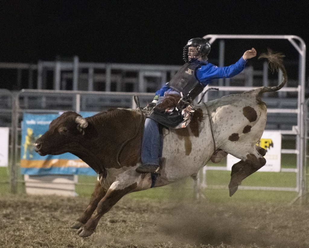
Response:
[{"label": "black protective vest on the bull rider's torso", "polygon": [[186,99],[195,99],[204,89],[204,86],[195,76],[195,70],[200,66],[201,63],[185,63],[167,83],[167,86],[182,92]]}]

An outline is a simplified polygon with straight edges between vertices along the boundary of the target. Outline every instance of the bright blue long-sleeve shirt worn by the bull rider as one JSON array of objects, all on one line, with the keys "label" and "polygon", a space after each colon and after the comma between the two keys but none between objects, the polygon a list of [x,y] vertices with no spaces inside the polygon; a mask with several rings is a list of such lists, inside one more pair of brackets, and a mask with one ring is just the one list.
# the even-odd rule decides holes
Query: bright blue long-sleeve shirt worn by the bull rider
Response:
[{"label": "bright blue long-sleeve shirt worn by the bull rider", "polygon": [[[246,60],[241,57],[235,64],[218,67],[214,64],[208,63],[207,61],[196,61],[201,64],[201,66],[195,71],[195,77],[197,80],[205,87],[213,79],[218,78],[231,78],[243,71]],[[172,90],[168,86],[163,86],[161,89],[157,90],[156,96],[163,96],[164,92],[167,90]]]}]

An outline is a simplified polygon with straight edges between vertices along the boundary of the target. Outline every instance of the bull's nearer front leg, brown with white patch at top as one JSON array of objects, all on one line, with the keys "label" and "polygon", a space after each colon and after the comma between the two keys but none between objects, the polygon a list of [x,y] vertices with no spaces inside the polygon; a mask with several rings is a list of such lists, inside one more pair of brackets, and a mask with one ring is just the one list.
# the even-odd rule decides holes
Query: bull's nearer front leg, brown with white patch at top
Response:
[{"label": "bull's nearer front leg, brown with white patch at top", "polygon": [[100,218],[108,212],[113,205],[115,205],[121,197],[126,195],[129,192],[132,192],[136,189],[138,183],[132,183],[131,185],[124,186],[119,181],[112,183],[111,187],[108,189],[106,195],[102,200],[99,201],[99,204],[92,214],[91,218],[84,224],[80,229],[78,229],[77,233],[80,237],[88,237],[90,236],[96,226],[99,223]]}]

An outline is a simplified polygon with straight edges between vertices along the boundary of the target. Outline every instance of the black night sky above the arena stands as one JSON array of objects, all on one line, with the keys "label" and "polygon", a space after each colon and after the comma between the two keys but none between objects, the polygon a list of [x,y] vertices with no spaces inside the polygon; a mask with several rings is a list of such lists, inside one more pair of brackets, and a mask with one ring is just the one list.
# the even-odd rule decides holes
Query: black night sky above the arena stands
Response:
[{"label": "black night sky above the arena stands", "polygon": [[[78,55],[180,65],[186,42],[207,34],[296,35],[308,46],[309,1],[0,1],[1,62]],[[243,41],[226,53],[238,60],[252,46],[272,45],[280,49]]]}]

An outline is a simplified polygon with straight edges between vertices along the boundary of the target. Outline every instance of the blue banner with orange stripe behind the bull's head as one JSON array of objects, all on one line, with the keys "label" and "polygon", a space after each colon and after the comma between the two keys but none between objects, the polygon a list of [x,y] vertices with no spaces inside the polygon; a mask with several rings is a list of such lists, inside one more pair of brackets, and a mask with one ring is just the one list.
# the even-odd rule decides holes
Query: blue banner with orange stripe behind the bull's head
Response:
[{"label": "blue banner with orange stripe behind the bull's head", "polygon": [[[81,112],[80,115],[88,117],[95,112]],[[60,155],[40,156],[35,152],[34,143],[49,128],[52,120],[60,114],[23,114],[22,145],[21,145],[21,173],[29,175],[47,174],[86,174],[96,175],[85,162],[71,153]]]}]

